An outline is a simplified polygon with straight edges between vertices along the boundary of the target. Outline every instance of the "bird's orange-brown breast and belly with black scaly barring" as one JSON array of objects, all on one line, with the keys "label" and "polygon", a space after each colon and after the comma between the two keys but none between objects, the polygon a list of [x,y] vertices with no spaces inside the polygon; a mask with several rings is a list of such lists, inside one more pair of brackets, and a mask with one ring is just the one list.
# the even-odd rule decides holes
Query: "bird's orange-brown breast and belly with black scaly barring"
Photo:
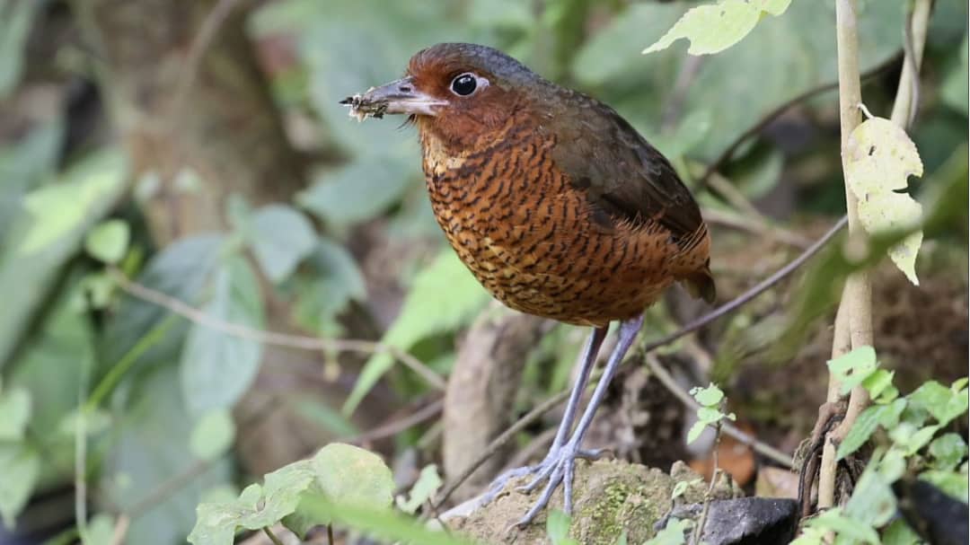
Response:
[{"label": "bird's orange-brown breast and belly with black scaly barring", "polygon": [[513,118],[462,152],[422,132],[428,192],[447,240],[514,309],[596,327],[638,315],[695,258],[678,255],[656,223],[632,226],[593,208],[556,168],[554,137],[529,127]]}]

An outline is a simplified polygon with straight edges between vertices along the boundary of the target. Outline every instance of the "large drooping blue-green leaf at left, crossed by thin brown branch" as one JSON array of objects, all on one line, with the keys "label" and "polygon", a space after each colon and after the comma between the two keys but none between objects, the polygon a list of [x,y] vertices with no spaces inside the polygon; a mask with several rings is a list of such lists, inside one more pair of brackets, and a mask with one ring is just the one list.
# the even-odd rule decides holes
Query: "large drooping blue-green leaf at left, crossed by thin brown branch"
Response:
[{"label": "large drooping blue-green leaf at left, crossed by thin brown branch", "polygon": [[[222,324],[263,328],[259,282],[240,256],[226,258],[214,273],[212,296],[202,310]],[[181,355],[185,401],[195,414],[232,406],[256,378],[262,344],[209,324],[194,324]]]}]

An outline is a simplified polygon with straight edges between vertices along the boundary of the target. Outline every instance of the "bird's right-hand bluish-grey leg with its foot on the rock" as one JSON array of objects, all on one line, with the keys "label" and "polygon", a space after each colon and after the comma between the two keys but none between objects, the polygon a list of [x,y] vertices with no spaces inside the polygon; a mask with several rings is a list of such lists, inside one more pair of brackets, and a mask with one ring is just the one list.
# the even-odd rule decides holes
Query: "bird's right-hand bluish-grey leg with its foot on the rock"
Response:
[{"label": "bird's right-hand bluish-grey leg with its foot on the rock", "polygon": [[[599,454],[599,451],[587,451],[579,448],[579,446],[583,441],[583,436],[586,434],[586,431],[589,430],[590,424],[593,423],[593,416],[597,412],[599,403],[606,396],[606,388],[609,386],[610,380],[616,374],[616,369],[620,367],[623,357],[630,349],[630,345],[633,344],[633,339],[636,338],[636,334],[640,331],[640,326],[642,325],[643,316],[620,323],[620,338],[616,347],[613,349],[613,353],[610,354],[606,368],[603,369],[603,374],[599,378],[597,389],[593,392],[593,397],[590,399],[589,404],[586,405],[583,416],[579,419],[579,425],[576,426],[576,431],[572,433],[565,444],[553,445],[553,448],[549,451],[549,455],[538,465],[537,475],[533,482],[524,487],[524,490],[529,492],[543,480],[548,480],[548,484],[546,484],[545,489],[542,491],[542,495],[535,501],[533,508],[516,523],[518,526],[526,526],[532,522],[535,515],[549,503],[549,498],[552,497],[552,493],[556,491],[560,483],[564,483],[563,492],[565,495],[566,514],[572,509],[572,475],[575,470],[576,459],[597,458]],[[560,431],[562,431],[562,428],[560,428]]]}]

